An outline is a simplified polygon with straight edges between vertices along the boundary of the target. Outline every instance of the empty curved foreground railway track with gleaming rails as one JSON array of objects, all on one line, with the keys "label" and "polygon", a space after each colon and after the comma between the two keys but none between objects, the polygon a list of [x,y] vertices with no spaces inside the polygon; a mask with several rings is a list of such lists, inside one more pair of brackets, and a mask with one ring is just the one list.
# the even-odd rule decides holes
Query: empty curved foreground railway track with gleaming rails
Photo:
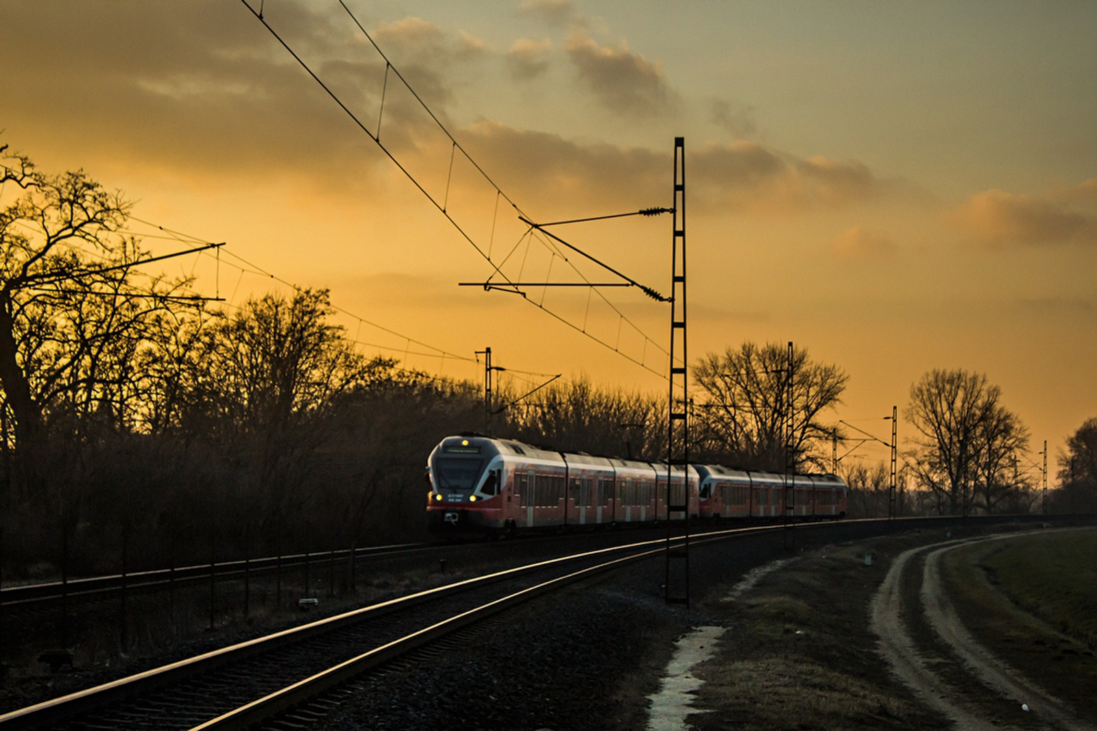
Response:
[{"label": "empty curved foreground railway track with gleaming rails", "polygon": [[0,716],[8,729],[246,728],[517,603],[665,548],[645,540],[382,602]]}]

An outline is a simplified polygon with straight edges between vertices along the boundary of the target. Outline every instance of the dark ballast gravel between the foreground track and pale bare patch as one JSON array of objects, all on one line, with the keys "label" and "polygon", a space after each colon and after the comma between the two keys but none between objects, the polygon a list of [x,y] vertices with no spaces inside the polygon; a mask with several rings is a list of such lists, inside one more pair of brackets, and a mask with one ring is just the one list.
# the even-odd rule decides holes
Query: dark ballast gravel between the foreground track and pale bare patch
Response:
[{"label": "dark ballast gravel between the foreground track and pale bare patch", "polygon": [[647,561],[510,609],[463,647],[360,683],[316,728],[643,729],[674,640],[711,621],[666,605],[661,569]]}]

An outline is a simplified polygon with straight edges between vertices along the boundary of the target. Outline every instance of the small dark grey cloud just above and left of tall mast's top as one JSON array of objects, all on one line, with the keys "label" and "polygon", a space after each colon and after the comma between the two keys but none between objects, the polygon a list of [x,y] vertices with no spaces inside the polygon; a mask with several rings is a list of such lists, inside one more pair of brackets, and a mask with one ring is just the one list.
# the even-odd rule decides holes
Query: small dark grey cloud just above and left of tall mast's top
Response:
[{"label": "small dark grey cloud just above and left of tall mast's top", "polygon": [[647,117],[666,111],[677,99],[661,65],[630,52],[624,41],[617,47],[600,46],[576,28],[566,49],[579,78],[611,112]]}]

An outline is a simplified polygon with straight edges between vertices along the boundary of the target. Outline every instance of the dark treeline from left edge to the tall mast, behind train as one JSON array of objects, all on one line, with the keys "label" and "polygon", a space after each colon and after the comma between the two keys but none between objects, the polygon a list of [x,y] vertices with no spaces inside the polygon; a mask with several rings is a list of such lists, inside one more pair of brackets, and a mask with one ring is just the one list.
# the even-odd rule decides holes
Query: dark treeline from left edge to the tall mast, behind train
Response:
[{"label": "dark treeline from left edge to the tall mast, behind train", "polygon": [[[479,386],[357,353],[326,290],[239,308],[149,275],[129,205],[5,148],[0,569],[5,580],[423,535],[425,465],[482,430]],[[656,398],[579,380],[504,389],[497,432],[658,459]]]}]

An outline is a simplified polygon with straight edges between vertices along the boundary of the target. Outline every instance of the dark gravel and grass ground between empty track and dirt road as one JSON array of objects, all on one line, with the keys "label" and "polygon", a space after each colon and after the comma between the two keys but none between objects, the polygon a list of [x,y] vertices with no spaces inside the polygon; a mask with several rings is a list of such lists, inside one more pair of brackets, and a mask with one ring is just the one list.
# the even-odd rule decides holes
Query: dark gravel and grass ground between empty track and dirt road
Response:
[{"label": "dark gravel and grass ground between empty track and dirt road", "polygon": [[[891,560],[950,527],[954,537],[1004,529],[934,523],[867,538],[868,527],[847,523],[798,528],[793,547],[781,532],[695,546],[689,609],[666,605],[664,561],[646,560],[360,681],[314,728],[644,729],[674,641],[704,625],[728,631],[694,671],[706,682],[694,706],[710,712],[690,723],[702,731],[947,728],[890,675],[868,614]],[[796,560],[725,598],[746,571],[782,558]]]}]

